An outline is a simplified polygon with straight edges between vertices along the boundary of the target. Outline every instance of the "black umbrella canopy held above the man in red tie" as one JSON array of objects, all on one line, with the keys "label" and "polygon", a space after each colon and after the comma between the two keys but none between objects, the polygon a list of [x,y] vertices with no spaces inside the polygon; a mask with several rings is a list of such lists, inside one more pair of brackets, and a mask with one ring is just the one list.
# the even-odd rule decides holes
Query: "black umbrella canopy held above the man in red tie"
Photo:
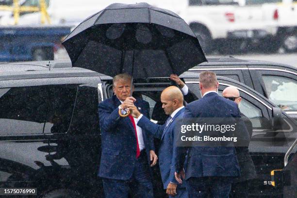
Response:
[{"label": "black umbrella canopy held above the man in red tie", "polygon": [[88,17],[62,43],[72,66],[133,78],[180,75],[207,61],[190,27],[148,3],[114,3]]}]

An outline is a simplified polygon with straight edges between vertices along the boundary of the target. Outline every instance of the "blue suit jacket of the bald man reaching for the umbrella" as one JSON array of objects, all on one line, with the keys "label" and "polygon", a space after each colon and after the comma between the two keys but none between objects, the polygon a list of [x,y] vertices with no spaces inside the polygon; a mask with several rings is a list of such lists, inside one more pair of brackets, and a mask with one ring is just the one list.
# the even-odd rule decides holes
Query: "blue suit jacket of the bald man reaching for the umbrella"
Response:
[{"label": "blue suit jacket of the bald man reaching for the umbrella", "polygon": [[159,165],[161,171],[161,177],[164,184],[164,189],[167,188],[169,182],[178,183],[175,180],[175,140],[174,140],[174,126],[177,118],[182,118],[184,113],[184,108],[179,110],[176,115],[172,118],[172,121],[166,127],[164,125],[158,125],[151,122],[146,116],[138,121],[137,125],[142,129],[145,129],[147,132],[150,132],[153,136],[158,139],[161,139],[160,148],[159,148]]}]

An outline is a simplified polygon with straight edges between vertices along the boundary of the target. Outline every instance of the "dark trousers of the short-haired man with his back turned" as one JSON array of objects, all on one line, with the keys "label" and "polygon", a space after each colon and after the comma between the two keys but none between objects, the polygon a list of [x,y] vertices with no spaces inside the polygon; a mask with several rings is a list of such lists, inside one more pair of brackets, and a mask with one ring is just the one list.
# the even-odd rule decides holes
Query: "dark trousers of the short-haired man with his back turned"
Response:
[{"label": "dark trousers of the short-haired man with his back turned", "polygon": [[189,198],[229,198],[231,177],[191,177],[187,181]]}]

